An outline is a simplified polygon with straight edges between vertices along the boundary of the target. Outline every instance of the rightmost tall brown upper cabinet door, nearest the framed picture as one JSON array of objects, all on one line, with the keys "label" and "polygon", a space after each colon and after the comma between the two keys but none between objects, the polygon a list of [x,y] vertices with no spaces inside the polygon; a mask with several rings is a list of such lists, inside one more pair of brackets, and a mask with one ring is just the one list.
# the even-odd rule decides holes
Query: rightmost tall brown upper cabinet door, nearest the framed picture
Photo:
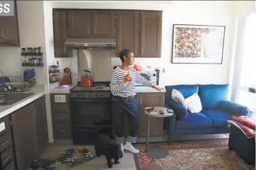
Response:
[{"label": "rightmost tall brown upper cabinet door, nearest the framed picture", "polygon": [[161,12],[141,12],[140,57],[161,57]]}]

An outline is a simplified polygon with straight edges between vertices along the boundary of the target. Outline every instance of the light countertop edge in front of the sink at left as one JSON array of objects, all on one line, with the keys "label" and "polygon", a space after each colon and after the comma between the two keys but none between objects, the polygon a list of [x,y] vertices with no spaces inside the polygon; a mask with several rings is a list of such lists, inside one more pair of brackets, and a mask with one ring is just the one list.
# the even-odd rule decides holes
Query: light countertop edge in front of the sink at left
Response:
[{"label": "light countertop edge in front of the sink at left", "polygon": [[34,94],[14,104],[10,104],[7,106],[0,106],[0,119],[18,110],[19,108],[22,108],[23,106],[26,106],[27,104],[37,100],[38,98],[41,98],[43,95],[45,95],[46,92],[44,87],[36,87],[31,91],[31,93],[34,93]]}]

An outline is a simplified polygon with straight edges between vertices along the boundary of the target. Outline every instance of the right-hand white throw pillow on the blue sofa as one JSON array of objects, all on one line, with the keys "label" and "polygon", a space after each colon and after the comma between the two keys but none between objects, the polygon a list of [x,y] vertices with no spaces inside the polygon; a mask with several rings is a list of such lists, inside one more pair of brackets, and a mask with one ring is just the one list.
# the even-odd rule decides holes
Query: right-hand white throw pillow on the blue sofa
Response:
[{"label": "right-hand white throw pillow on the blue sofa", "polygon": [[189,96],[189,98],[185,99],[187,110],[192,113],[197,113],[202,110],[202,103],[197,93]]}]

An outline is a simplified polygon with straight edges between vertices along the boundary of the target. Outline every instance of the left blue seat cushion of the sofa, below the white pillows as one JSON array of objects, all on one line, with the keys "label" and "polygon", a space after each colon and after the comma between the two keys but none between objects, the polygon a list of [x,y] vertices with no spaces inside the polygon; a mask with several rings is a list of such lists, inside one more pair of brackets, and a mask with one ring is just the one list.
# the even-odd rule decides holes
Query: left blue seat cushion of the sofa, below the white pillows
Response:
[{"label": "left blue seat cushion of the sofa, below the white pillows", "polygon": [[189,112],[185,119],[180,119],[176,121],[177,129],[200,129],[200,128],[211,128],[212,121],[202,114]]}]

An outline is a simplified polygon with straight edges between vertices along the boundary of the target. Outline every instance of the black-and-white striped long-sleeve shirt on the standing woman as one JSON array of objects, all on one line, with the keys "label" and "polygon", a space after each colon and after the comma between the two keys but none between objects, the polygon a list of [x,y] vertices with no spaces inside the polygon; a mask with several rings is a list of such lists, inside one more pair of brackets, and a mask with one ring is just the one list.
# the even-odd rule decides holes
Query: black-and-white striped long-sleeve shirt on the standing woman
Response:
[{"label": "black-and-white striped long-sleeve shirt on the standing woman", "polygon": [[[123,77],[130,72],[131,81],[124,83]],[[121,97],[128,97],[136,94],[135,83],[141,83],[147,87],[154,87],[153,83],[147,81],[142,77],[134,68],[124,71],[121,68],[116,67],[112,73],[112,79],[110,81],[110,91],[113,95]]]}]

